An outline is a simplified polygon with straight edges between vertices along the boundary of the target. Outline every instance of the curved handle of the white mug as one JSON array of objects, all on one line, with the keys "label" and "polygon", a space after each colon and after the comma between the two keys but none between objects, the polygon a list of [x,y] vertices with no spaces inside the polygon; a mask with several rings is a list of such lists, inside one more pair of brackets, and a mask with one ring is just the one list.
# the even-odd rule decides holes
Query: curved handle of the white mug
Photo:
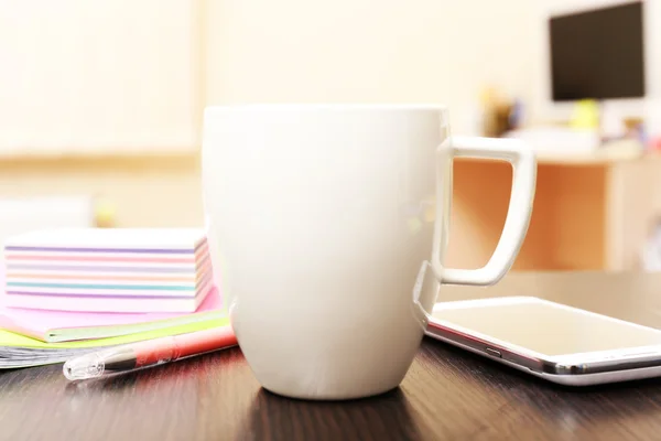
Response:
[{"label": "curved handle of the white mug", "polygon": [[[496,250],[486,266],[478,269],[444,268],[441,263],[441,240],[447,229],[448,213],[436,215],[432,248],[432,269],[441,283],[489,286],[497,283],[511,268],[528,232],[535,191],[537,161],[532,150],[517,139],[452,137],[451,161],[454,158],[488,158],[512,164],[512,192],[505,228]],[[441,161],[440,161],[441,162]],[[440,164],[438,166],[443,166]],[[437,180],[442,176],[437,172]],[[442,183],[438,182],[438,186]],[[442,192],[443,189],[437,189]],[[438,193],[442,194],[442,193]]]}]

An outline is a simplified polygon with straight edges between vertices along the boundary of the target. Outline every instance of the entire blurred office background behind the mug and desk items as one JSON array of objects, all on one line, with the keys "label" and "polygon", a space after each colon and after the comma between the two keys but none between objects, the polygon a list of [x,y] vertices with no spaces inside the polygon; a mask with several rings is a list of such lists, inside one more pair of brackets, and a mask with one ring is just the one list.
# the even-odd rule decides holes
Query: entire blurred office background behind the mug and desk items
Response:
[{"label": "entire blurred office background behind the mug and desk items", "polygon": [[[658,0],[0,0],[0,239],[203,225],[204,107],[254,101],[445,104],[538,152],[516,269],[661,269]],[[454,180],[481,266],[511,171]]]}]

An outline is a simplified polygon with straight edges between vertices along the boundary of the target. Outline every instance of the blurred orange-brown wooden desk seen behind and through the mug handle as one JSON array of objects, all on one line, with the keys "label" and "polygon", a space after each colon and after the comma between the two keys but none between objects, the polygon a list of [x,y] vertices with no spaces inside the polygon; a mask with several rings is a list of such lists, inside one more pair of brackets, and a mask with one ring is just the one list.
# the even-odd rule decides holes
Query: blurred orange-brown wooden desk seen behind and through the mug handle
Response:
[{"label": "blurred orange-brown wooden desk seen behind and through the mug handle", "polygon": [[[631,270],[661,215],[661,157],[538,155],[530,229],[518,270]],[[454,166],[447,265],[485,265],[510,196],[509,164],[462,159]]]}]

